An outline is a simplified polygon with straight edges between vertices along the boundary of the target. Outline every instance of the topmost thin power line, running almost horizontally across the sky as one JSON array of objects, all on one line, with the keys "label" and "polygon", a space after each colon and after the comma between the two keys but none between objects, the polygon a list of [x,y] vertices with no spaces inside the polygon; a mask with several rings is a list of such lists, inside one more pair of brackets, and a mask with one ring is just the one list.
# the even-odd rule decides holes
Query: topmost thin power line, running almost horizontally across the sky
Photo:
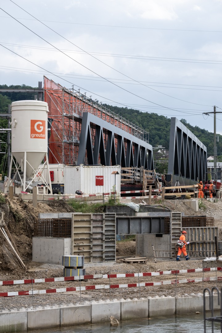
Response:
[{"label": "topmost thin power line, running almost horizontally across the sky", "polygon": [[[7,16],[0,16],[3,18],[9,18]],[[27,21],[35,21],[32,19],[25,19],[17,17],[19,20],[27,20]],[[63,23],[63,24],[75,24],[75,25],[89,25],[96,27],[110,27],[110,28],[125,28],[125,29],[145,29],[145,30],[166,30],[166,31],[187,31],[187,32],[218,32],[221,33],[220,30],[191,30],[191,29],[168,29],[168,28],[148,28],[148,27],[129,27],[129,26],[121,26],[121,25],[108,25],[108,24],[91,24],[91,23],[76,23],[76,22],[62,22],[62,21],[49,21],[49,20],[41,20],[41,22],[50,22],[50,23]]]}]

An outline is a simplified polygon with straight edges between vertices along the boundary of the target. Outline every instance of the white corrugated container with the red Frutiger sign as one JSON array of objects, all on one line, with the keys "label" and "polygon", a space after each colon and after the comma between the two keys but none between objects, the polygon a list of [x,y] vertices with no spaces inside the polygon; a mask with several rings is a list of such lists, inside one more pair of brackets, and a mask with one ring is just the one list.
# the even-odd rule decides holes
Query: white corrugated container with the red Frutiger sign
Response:
[{"label": "white corrugated container with the red Frutiger sign", "polygon": [[[119,174],[112,174],[117,171]],[[120,192],[120,166],[65,166],[64,193],[75,194],[81,190],[85,194]]]}]

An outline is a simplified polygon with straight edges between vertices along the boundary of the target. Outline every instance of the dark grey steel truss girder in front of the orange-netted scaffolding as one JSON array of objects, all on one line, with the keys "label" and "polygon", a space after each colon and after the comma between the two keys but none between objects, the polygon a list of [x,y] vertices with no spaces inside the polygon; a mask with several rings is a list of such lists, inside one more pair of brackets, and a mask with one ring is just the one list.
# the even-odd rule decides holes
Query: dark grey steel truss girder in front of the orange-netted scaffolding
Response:
[{"label": "dark grey steel truss girder in front of the orange-netted scaffolding", "polygon": [[[92,131],[95,133],[94,147]],[[105,133],[107,133],[106,145]],[[117,150],[115,149],[115,139],[117,140]],[[84,164],[86,152],[89,165],[97,165],[100,155],[101,164],[104,166],[143,166],[144,169],[153,170],[151,145],[88,112],[83,113],[78,165]]]}]

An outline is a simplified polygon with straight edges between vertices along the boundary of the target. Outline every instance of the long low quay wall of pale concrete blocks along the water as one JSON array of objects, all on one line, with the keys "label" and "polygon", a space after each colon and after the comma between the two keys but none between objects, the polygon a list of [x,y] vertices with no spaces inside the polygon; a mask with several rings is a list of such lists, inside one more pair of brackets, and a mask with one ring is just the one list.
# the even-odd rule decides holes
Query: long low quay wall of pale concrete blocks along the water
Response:
[{"label": "long low quay wall of pale concrete blocks along the water", "polygon": [[[206,304],[209,296],[206,296]],[[214,296],[214,310],[218,310]],[[110,316],[117,320],[152,318],[175,314],[203,312],[203,294],[193,296],[155,296],[140,299],[113,299],[80,304],[61,304],[32,308],[0,310],[0,333],[19,332],[50,327],[75,326],[90,323],[108,323]]]}]

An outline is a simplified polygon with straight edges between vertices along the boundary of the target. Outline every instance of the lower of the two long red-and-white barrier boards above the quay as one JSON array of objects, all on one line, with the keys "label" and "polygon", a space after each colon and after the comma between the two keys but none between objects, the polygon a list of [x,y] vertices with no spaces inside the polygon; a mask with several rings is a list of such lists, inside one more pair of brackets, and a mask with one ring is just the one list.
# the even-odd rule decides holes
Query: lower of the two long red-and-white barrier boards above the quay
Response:
[{"label": "lower of the two long red-and-white barrier boards above the quay", "polygon": [[36,294],[52,294],[59,292],[70,292],[70,291],[84,291],[84,290],[95,290],[95,289],[115,289],[115,288],[134,288],[134,287],[149,287],[149,286],[161,286],[166,284],[179,284],[179,283],[192,283],[192,282],[202,282],[202,281],[215,281],[222,280],[222,277],[212,276],[212,277],[197,277],[192,279],[181,279],[181,280],[166,280],[158,282],[142,282],[142,283],[128,283],[128,284],[98,284],[93,286],[81,286],[81,287],[69,287],[69,288],[54,288],[54,289],[44,289],[44,290],[27,290],[27,291],[10,291],[1,292],[0,297],[11,297],[11,296],[26,296],[26,295],[36,295]]}]

